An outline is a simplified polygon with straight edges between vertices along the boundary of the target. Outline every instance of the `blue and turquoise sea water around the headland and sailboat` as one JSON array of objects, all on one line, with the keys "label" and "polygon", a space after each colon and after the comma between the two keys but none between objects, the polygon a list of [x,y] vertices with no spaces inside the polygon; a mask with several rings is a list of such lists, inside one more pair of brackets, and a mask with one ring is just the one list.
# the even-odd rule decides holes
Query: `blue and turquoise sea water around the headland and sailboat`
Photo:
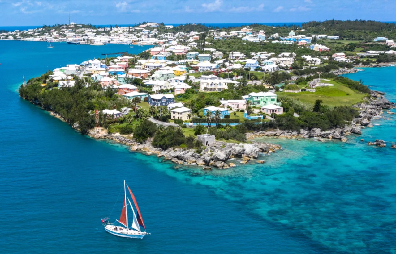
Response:
[{"label": "blue and turquoise sea water around the headland and sailboat", "polygon": [[[396,252],[392,115],[347,143],[263,139],[284,148],[263,156],[265,164],[176,166],[78,134],[17,94],[23,75],[146,47],[53,45],[0,41],[0,253]],[[348,77],[396,102],[395,67]],[[119,218],[124,179],[152,233],[143,240],[101,225]]]}]

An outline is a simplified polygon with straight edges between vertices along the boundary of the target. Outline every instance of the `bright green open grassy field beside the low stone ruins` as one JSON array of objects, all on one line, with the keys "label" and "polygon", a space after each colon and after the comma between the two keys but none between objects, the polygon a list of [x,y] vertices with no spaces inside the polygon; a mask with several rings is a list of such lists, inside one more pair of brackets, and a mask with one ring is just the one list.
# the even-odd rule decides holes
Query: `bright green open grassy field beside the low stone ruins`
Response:
[{"label": "bright green open grassy field beside the low stone ruins", "polygon": [[353,105],[361,102],[366,94],[355,92],[352,89],[341,85],[335,81],[324,81],[324,83],[330,83],[332,87],[317,87],[316,92],[299,92],[299,93],[284,93],[277,92],[277,94],[285,94],[293,97],[301,102],[314,103],[315,100],[322,100],[322,104],[328,106],[341,106],[341,105]]}]

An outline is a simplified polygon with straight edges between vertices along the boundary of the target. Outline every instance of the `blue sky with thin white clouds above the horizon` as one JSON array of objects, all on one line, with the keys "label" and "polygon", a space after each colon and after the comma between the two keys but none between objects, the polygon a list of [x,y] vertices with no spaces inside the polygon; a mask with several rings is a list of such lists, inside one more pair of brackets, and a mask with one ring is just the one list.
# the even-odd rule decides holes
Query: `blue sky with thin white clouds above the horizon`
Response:
[{"label": "blue sky with thin white clouds above the horizon", "polygon": [[0,0],[0,26],[395,21],[396,0]]}]

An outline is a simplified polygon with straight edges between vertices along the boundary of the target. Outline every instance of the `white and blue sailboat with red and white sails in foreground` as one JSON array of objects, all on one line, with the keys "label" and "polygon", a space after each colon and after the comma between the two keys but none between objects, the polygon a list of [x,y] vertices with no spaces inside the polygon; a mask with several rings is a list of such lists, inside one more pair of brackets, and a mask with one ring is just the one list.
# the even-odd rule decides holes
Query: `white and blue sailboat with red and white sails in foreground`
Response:
[{"label": "white and blue sailboat with red and white sails in foreground", "polygon": [[[135,204],[137,217],[136,217],[135,211],[133,210],[131,201],[126,196],[126,187],[125,186],[128,188],[129,194],[131,194],[131,198],[133,200],[133,203]],[[127,203],[127,201],[128,201],[128,203]],[[128,205],[129,205],[129,207],[131,207],[132,215],[133,215],[131,228],[129,228],[129,226],[128,226],[128,209],[127,209]],[[124,180],[124,205],[122,205],[120,220],[116,220],[116,222],[111,223],[111,222],[109,222],[109,217],[105,217],[102,219],[102,224],[105,226],[105,230],[107,232],[109,232],[112,235],[116,235],[116,236],[120,236],[120,237],[140,238],[141,239],[141,238],[145,237],[145,235],[149,235],[149,233],[146,232],[146,227],[143,222],[143,218],[140,213],[139,206],[137,205],[135,196],[131,192],[131,189],[129,188],[129,186],[125,184],[125,180]],[[142,231],[140,227],[143,227],[144,230]]]}]

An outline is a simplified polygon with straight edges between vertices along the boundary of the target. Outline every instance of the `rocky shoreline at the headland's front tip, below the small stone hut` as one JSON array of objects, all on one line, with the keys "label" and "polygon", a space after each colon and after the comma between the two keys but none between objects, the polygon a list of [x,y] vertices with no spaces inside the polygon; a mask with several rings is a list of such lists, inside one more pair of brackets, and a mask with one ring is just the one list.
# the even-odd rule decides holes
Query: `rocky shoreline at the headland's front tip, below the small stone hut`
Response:
[{"label": "rocky shoreline at the headland's front tip, below the small stone hut", "polygon": [[203,169],[211,169],[210,166],[219,169],[234,167],[233,162],[228,160],[236,159],[236,162],[246,164],[248,162],[264,163],[263,160],[255,160],[259,157],[259,153],[269,154],[281,149],[280,145],[270,143],[227,143],[215,141],[210,147],[205,147],[201,153],[197,153],[196,149],[185,148],[169,148],[162,150],[151,145],[151,139],[145,143],[137,143],[132,140],[132,136],[124,136],[120,134],[106,134],[106,130],[95,133],[94,130],[89,132],[89,136],[95,139],[110,139],[117,143],[128,145],[131,151],[142,151],[145,154],[156,154],[157,157],[163,157],[177,164],[190,164],[203,166]]}]

